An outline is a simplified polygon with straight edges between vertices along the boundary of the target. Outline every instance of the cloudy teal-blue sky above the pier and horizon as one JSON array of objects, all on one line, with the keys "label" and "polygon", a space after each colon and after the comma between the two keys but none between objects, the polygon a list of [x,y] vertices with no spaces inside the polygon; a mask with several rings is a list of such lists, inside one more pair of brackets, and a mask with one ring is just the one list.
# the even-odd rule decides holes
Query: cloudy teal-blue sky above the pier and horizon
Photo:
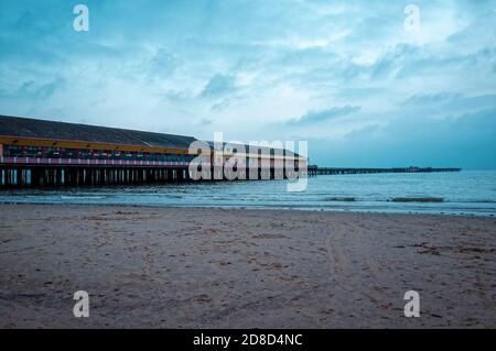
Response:
[{"label": "cloudy teal-blue sky above the pier and horizon", "polygon": [[496,169],[496,0],[2,0],[0,114]]}]

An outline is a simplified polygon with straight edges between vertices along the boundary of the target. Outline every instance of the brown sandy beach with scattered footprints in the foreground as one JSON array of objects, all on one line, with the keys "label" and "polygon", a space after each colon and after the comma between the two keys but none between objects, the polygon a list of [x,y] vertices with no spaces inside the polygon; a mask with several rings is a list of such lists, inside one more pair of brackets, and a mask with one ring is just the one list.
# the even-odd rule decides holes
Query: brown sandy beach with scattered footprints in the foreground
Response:
[{"label": "brown sandy beach with scattered footprints in the foreground", "polygon": [[[0,327],[496,327],[494,218],[0,205]],[[90,317],[73,316],[73,294]],[[403,294],[420,293],[420,318]]]}]

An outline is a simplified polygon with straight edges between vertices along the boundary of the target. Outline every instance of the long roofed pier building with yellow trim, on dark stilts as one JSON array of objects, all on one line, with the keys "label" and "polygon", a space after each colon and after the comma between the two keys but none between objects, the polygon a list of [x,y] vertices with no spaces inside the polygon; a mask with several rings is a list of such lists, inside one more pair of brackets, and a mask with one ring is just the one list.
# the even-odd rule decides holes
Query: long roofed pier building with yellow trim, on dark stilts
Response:
[{"label": "long roofed pier building with yellow trim, on dark stilts", "polygon": [[[0,116],[0,188],[190,182],[206,171],[212,176],[207,180],[306,176],[306,158],[291,151],[258,147],[250,153],[248,145],[238,144],[236,152],[219,154],[209,142],[201,142],[207,161],[192,171],[202,154],[191,150],[197,142],[193,136]],[[283,167],[288,161],[293,168]]]}]

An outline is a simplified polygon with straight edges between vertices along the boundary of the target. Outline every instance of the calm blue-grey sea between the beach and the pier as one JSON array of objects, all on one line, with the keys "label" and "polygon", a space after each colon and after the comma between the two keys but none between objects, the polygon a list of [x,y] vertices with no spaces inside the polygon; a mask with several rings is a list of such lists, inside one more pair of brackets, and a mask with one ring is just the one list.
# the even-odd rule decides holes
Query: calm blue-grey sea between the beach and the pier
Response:
[{"label": "calm blue-grey sea between the beach and the pier", "polygon": [[298,193],[288,191],[288,182],[3,189],[0,202],[496,215],[496,171],[320,175]]}]

